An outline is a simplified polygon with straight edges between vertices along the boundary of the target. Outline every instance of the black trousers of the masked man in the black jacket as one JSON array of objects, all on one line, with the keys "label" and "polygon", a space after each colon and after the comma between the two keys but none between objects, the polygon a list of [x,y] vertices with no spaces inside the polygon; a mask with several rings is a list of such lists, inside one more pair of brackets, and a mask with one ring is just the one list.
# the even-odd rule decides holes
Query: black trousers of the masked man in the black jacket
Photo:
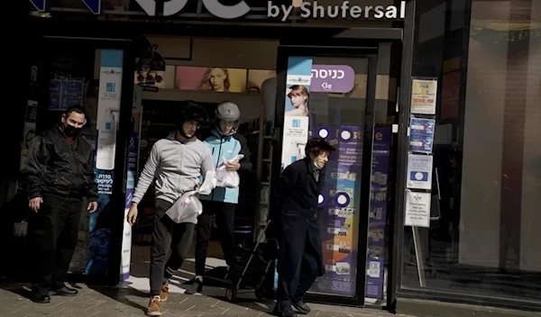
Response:
[{"label": "black trousers of the masked man in the black jacket", "polygon": [[77,247],[82,201],[43,196],[38,213],[31,213],[29,239],[32,248],[32,292],[47,294],[64,287],[69,263]]}]

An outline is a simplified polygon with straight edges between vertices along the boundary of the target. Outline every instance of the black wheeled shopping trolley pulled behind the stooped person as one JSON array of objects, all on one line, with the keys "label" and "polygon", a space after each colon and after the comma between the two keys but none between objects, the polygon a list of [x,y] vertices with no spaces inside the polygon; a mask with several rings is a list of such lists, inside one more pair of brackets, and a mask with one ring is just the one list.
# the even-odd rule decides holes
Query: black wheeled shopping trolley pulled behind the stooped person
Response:
[{"label": "black wheeled shopping trolley pulled behind the stooped person", "polygon": [[[268,221],[259,232],[252,248],[238,246],[235,249],[234,263],[229,268],[226,277],[231,281],[231,285],[225,290],[225,297],[231,303],[236,302],[239,291],[246,291],[243,293],[254,292],[258,299],[265,297],[265,276],[269,273],[269,268],[276,258],[274,257],[276,252],[261,249],[269,224],[271,224],[271,221]],[[274,246],[274,249],[276,249],[275,240],[266,240],[266,242],[264,244],[267,248]],[[272,244],[273,242],[274,244]],[[272,255],[271,258],[270,255]]]}]

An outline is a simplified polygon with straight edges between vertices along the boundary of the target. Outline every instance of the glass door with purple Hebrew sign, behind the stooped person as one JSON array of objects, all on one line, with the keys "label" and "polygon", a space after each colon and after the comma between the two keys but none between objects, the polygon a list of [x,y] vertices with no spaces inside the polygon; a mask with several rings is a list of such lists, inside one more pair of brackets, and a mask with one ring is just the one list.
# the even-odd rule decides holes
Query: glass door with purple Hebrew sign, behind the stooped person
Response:
[{"label": "glass door with purple Hebrew sign, behind the stooped person", "polygon": [[280,154],[273,162],[280,165],[273,163],[272,179],[304,158],[310,138],[325,138],[336,148],[319,195],[326,274],[309,295],[318,302],[362,306],[377,50],[281,47],[279,54],[275,152]]}]

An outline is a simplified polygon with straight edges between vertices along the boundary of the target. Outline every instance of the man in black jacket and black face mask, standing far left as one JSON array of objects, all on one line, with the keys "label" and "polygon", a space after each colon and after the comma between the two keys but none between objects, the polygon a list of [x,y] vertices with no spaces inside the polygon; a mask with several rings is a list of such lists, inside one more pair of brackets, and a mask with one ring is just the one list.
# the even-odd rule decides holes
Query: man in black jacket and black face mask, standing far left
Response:
[{"label": "man in black jacket and black face mask, standing far left", "polygon": [[94,150],[78,138],[85,112],[71,106],[61,123],[32,140],[21,171],[21,183],[32,211],[29,222],[32,255],[32,301],[50,303],[50,294],[73,296],[64,284],[77,246],[83,197],[87,210],[97,209]]}]

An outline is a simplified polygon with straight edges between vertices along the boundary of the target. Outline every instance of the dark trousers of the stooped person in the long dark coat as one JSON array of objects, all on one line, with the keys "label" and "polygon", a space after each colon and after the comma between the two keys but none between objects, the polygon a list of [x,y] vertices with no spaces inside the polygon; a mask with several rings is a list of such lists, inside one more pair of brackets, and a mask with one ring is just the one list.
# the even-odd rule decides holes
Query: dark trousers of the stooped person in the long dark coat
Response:
[{"label": "dark trousers of the stooped person in the long dark coat", "polygon": [[298,303],[317,278],[317,252],[308,234],[302,239],[289,240],[290,236],[279,238],[278,289],[276,307],[278,312],[291,310],[291,303]]}]

